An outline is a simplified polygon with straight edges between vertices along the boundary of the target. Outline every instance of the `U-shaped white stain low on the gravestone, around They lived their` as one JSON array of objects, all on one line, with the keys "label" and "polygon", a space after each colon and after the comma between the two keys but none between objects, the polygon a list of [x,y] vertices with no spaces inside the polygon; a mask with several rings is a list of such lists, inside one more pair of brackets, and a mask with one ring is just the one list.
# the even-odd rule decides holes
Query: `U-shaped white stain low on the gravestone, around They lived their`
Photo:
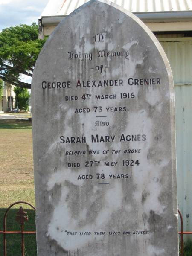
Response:
[{"label": "U-shaped white stain low on the gravestone, around They lived their", "polygon": [[[62,179],[61,176],[62,175],[60,172],[60,175],[56,175],[55,177],[52,177],[52,179],[56,179],[57,182],[60,183],[60,179]],[[52,189],[54,184],[54,181],[50,181],[48,188]],[[94,233],[92,233],[90,236],[79,236],[79,232],[94,232],[95,230],[105,229],[105,225],[110,222],[111,215],[116,214],[116,211],[122,207],[123,191],[120,183],[114,183],[113,187],[108,189],[108,191],[105,193],[102,209],[99,214],[96,215],[94,223],[86,224],[81,228],[78,227],[78,223],[86,218],[87,211],[83,209],[79,211],[78,217],[73,217],[73,212],[71,212],[67,201],[69,192],[70,191],[66,186],[62,186],[61,198],[59,202],[55,202],[53,215],[48,226],[47,236],[49,236],[49,239],[56,240],[57,243],[65,250],[76,250],[80,246],[83,247],[88,243],[94,242],[95,239],[102,239],[102,236],[95,237]],[[87,198],[87,200],[90,199]],[[77,209],[75,210],[77,211]],[[67,235],[65,230],[70,232],[78,232],[78,235],[76,235],[74,239],[74,236]]]}]

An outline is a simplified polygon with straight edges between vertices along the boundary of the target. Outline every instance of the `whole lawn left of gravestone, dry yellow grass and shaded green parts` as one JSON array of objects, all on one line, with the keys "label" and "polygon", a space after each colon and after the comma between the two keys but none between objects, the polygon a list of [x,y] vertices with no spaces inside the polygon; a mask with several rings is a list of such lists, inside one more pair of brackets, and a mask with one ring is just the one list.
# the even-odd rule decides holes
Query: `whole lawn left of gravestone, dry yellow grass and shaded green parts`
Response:
[{"label": "whole lawn left of gravestone, dry yellow grass and shaded green parts", "polygon": [[[15,201],[27,201],[35,206],[32,159],[32,126],[29,121],[0,120],[0,230],[6,208]],[[15,215],[21,204],[7,215],[7,230],[20,230]],[[35,212],[23,204],[29,221],[24,230],[35,230]],[[7,256],[21,255],[20,235],[6,235]],[[36,256],[35,235],[25,235],[25,255]],[[3,255],[3,235],[0,234],[0,255]]]}]

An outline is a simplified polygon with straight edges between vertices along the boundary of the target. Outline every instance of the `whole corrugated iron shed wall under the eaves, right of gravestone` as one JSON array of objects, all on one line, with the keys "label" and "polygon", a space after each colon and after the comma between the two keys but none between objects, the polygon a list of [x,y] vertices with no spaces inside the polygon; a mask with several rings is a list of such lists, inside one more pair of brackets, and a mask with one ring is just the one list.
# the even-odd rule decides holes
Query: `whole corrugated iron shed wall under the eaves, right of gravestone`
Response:
[{"label": "whole corrugated iron shed wall under the eaves, right of gravestone", "polygon": [[[178,205],[185,231],[192,230],[192,38],[163,41],[175,83]],[[181,39],[180,39],[181,40]]]}]

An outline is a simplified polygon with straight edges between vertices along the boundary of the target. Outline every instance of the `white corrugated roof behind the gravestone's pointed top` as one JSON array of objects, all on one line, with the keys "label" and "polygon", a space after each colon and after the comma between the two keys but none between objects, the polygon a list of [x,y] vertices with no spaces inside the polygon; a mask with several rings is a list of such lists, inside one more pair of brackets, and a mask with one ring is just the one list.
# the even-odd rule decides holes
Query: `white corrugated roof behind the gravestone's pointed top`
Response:
[{"label": "white corrugated roof behind the gravestone's pointed top", "polygon": [[[69,15],[89,0],[49,0],[42,16]],[[192,0],[111,0],[130,12],[192,11]]]}]

